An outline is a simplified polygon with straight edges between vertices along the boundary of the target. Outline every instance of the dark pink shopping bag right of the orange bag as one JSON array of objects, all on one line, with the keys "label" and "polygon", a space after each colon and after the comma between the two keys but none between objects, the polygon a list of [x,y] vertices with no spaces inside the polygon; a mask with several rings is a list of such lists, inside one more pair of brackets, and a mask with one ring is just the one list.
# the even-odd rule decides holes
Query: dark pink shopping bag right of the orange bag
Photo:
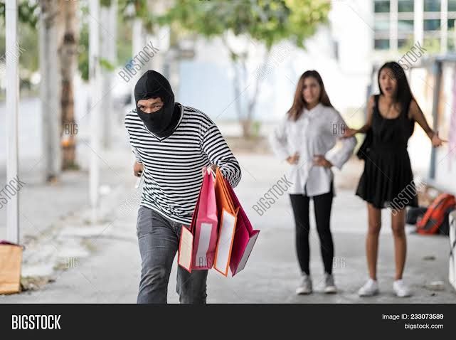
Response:
[{"label": "dark pink shopping bag right of the orange bag", "polygon": [[[226,181],[226,179],[225,179]],[[252,224],[248,220],[243,207],[240,205],[238,197],[235,195],[228,181],[226,181],[228,193],[238,209],[238,220],[236,221],[233,248],[231,250],[230,270],[231,275],[236,275],[244,269],[250,253],[252,253],[253,245],[260,234],[260,230],[253,230]]]}]

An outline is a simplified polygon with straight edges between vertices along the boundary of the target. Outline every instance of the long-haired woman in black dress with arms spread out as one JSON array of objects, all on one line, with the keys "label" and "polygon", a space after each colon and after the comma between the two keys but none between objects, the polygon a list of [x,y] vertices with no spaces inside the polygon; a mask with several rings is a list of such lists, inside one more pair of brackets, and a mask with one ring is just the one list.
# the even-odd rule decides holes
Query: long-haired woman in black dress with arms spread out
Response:
[{"label": "long-haired woman in black dress with arms spread out", "polygon": [[[366,256],[369,279],[359,289],[360,296],[378,293],[376,264],[378,234],[381,228],[381,209],[391,208],[391,228],[394,236],[396,276],[393,290],[398,297],[410,296],[410,289],[402,280],[407,243],[405,240],[405,206],[418,206],[407,142],[415,122],[420,124],[433,144],[440,147],[443,141],[426,122],[418,103],[413,99],[401,65],[384,64],[378,71],[379,95],[368,100],[368,115],[361,129],[346,129],[344,137],[367,133],[360,149],[364,158],[364,173],[356,195],[367,202],[368,233]],[[367,145],[366,145],[367,144]]]}]

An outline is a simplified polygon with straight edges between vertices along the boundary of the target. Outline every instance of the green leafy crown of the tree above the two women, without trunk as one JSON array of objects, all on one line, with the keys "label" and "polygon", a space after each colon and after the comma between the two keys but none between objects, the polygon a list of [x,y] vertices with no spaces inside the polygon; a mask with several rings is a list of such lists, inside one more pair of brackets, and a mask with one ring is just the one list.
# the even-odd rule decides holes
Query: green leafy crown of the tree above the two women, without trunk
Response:
[{"label": "green leafy crown of the tree above the two women, without trunk", "polygon": [[327,21],[329,9],[325,0],[181,0],[157,21],[208,38],[226,31],[248,35],[267,49],[284,39],[304,47],[305,38]]}]

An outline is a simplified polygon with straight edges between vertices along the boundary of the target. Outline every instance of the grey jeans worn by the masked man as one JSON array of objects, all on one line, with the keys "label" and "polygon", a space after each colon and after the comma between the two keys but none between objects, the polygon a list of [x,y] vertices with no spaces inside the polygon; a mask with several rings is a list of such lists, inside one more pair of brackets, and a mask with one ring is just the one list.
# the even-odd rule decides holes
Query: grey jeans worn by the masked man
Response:
[{"label": "grey jeans worn by the masked man", "polygon": [[[139,207],[137,237],[142,270],[138,304],[166,304],[168,281],[179,248],[182,224],[144,206]],[[191,273],[178,265],[176,292],[182,303],[206,303],[207,270]]]}]

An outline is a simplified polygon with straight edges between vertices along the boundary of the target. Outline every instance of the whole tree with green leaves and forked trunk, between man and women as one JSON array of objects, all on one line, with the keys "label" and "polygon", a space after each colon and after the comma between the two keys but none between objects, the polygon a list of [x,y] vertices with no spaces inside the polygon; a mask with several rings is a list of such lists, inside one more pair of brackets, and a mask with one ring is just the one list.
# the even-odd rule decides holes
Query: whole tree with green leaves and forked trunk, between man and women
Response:
[{"label": "whole tree with green leaves and forked trunk, between man and women", "polygon": [[[263,43],[267,51],[261,67],[264,69],[272,47],[280,41],[290,41],[304,48],[305,39],[315,33],[319,24],[327,22],[329,10],[330,1],[327,0],[180,0],[175,1],[164,16],[151,18],[153,14],[147,14],[147,17],[149,21],[177,27],[176,31],[182,34],[221,37],[233,61],[233,84],[238,98],[246,83],[248,49],[235,51],[229,46],[227,33]],[[247,105],[236,100],[245,137],[252,130],[253,109],[262,79],[256,78]]]}]

